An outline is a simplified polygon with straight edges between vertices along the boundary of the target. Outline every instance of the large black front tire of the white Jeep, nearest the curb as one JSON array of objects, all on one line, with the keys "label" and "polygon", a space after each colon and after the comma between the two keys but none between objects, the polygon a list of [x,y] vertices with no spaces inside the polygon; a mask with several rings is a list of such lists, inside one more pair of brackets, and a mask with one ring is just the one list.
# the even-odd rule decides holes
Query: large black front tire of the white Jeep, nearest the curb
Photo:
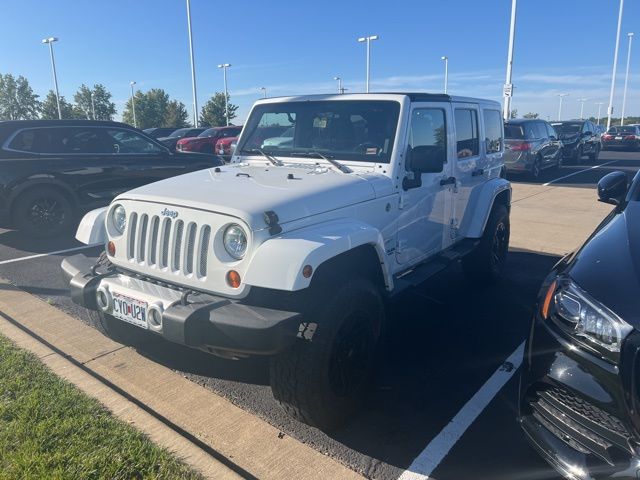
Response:
[{"label": "large black front tire of the white Jeep, nearest the curb", "polygon": [[311,341],[299,339],[273,357],[270,378],[273,396],[289,415],[327,431],[345,423],[364,400],[384,308],[378,289],[365,279],[333,291],[320,288],[318,295],[321,301],[303,320],[316,325]]}]

